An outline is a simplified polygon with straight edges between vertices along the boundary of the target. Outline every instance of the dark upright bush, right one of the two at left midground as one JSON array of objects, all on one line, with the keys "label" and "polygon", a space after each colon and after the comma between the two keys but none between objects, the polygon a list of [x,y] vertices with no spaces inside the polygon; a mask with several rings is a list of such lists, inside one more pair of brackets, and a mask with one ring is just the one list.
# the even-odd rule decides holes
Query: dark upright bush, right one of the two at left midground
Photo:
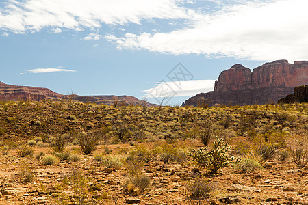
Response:
[{"label": "dark upright bush, right one of the two at left midground", "polygon": [[84,154],[91,154],[99,142],[100,136],[97,133],[81,132],[77,135],[79,146]]}]

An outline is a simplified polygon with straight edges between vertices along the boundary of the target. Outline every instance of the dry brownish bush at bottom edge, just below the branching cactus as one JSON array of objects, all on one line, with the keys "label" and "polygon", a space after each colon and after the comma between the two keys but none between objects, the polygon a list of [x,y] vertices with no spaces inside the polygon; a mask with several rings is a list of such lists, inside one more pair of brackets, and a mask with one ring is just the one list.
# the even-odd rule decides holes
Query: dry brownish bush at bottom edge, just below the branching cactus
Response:
[{"label": "dry brownish bush at bottom edge, just below the branching cactus", "polygon": [[193,200],[197,200],[196,204],[201,204],[201,200],[209,197],[211,191],[214,190],[213,186],[201,176],[197,176],[192,182],[186,184],[186,189],[190,197]]}]

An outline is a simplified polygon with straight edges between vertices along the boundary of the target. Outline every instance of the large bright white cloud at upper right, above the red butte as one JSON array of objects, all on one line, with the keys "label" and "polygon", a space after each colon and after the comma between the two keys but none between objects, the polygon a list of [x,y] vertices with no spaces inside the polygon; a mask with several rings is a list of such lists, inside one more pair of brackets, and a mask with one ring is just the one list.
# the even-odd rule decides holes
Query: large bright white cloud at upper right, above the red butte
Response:
[{"label": "large bright white cloud at upper right, above the red butte", "polygon": [[106,39],[118,44],[118,49],[173,55],[193,53],[257,61],[308,58],[307,0],[234,2],[217,12],[192,18],[190,25],[182,29],[126,33]]}]

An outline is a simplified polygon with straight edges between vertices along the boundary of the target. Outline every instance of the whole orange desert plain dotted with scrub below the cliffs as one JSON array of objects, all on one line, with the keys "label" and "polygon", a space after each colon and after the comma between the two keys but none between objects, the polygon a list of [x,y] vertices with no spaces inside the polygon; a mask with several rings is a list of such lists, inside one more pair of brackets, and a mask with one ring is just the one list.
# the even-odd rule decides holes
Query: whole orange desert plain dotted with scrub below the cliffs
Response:
[{"label": "whole orange desert plain dotted with scrub below the cliffs", "polygon": [[[0,204],[127,204],[131,197],[139,204],[290,204],[293,193],[303,204],[307,109],[161,106],[144,113],[120,103],[1,102]],[[99,140],[82,143],[80,133]],[[51,149],[56,135],[65,139],[59,152]]]}]

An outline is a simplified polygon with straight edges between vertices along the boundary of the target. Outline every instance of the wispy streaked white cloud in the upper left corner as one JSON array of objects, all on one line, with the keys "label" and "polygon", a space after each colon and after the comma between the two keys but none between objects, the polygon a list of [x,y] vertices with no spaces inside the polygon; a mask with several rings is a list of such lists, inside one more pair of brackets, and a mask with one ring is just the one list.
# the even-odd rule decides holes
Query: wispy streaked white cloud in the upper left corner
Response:
[{"label": "wispy streaked white cloud in the upper left corner", "polygon": [[107,25],[140,24],[151,18],[189,18],[181,0],[7,0],[0,8],[0,28],[14,33],[45,27],[82,30]]}]

